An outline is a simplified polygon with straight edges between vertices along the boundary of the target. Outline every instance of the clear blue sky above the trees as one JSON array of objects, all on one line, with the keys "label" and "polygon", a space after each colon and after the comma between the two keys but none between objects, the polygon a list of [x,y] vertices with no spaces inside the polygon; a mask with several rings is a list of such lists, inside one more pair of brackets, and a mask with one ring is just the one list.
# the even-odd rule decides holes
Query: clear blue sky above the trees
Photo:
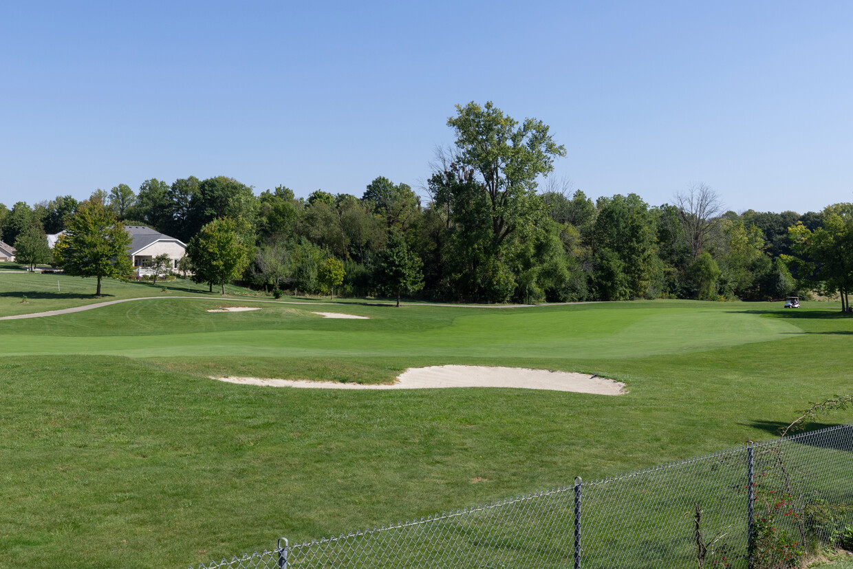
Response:
[{"label": "clear blue sky above the trees", "polygon": [[493,101],[591,197],[820,210],[853,201],[851,57],[842,1],[3,2],[0,202],[417,188],[454,105]]}]

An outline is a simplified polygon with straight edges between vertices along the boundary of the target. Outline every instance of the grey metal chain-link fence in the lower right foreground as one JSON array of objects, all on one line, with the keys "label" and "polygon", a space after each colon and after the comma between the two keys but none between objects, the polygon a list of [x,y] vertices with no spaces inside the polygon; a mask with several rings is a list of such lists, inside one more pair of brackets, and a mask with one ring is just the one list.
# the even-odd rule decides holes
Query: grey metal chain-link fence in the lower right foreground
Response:
[{"label": "grey metal chain-link fence in the lower right foreground", "polygon": [[853,542],[850,526],[844,425],[198,569],[760,569]]}]

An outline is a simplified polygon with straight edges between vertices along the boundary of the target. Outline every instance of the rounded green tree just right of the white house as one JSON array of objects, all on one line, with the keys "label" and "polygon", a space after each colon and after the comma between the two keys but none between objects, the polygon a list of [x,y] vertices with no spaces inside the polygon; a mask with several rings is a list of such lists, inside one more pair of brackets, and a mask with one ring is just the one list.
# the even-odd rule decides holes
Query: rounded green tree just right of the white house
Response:
[{"label": "rounded green tree just right of the white house", "polygon": [[218,284],[225,293],[225,283],[241,276],[248,264],[249,247],[244,242],[246,229],[231,218],[216,218],[189,240],[187,256],[194,266],[194,282]]}]

